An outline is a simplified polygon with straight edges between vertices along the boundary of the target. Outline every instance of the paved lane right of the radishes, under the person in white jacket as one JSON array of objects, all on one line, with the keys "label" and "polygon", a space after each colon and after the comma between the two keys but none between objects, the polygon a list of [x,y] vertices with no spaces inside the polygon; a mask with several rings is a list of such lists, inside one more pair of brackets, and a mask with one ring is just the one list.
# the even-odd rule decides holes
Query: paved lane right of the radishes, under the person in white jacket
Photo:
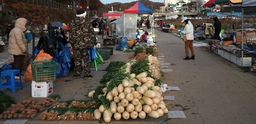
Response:
[{"label": "paved lane right of the radishes, under the person in white jacket", "polygon": [[[181,91],[169,110],[187,108],[187,119],[170,119],[168,124],[255,124],[256,77],[205,48],[195,48],[196,60],[185,61],[184,43],[172,34],[156,31],[159,53],[165,54],[175,72],[165,73],[164,83]],[[181,106],[179,106],[181,105]]]}]

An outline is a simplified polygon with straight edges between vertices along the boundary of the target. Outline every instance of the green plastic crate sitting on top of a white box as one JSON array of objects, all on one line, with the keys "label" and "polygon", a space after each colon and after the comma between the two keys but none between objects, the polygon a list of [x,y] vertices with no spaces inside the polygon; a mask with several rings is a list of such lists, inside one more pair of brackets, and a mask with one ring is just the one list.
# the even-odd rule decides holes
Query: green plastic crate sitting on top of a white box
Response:
[{"label": "green plastic crate sitting on top of a white box", "polygon": [[34,81],[44,82],[56,79],[58,65],[52,60],[35,61],[30,64]]}]

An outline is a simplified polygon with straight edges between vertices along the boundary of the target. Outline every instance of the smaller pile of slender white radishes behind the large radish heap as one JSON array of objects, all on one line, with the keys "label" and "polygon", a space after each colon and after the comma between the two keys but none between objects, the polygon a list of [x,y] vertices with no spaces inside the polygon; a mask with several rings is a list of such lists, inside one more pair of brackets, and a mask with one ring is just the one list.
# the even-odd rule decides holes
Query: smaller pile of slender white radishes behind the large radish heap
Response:
[{"label": "smaller pile of slender white radishes behind the large radish heap", "polygon": [[149,72],[152,77],[161,78],[161,62],[157,59],[157,57],[153,57],[152,55],[148,56],[149,59]]}]

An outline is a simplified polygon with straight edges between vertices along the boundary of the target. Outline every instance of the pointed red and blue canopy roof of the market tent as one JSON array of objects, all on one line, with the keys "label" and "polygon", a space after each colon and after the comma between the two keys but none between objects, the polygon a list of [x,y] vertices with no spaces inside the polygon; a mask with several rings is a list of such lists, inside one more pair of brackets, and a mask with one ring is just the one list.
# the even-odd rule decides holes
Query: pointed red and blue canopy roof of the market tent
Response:
[{"label": "pointed red and blue canopy roof of the market tent", "polygon": [[124,13],[129,14],[148,14],[153,13],[153,10],[145,7],[141,2],[137,1],[131,8],[124,10]]}]

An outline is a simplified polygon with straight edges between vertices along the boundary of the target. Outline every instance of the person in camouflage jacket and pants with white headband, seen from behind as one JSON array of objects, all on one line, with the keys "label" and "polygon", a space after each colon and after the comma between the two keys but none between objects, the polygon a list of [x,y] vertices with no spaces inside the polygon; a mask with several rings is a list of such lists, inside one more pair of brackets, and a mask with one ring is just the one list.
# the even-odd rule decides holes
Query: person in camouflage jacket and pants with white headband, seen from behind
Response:
[{"label": "person in camouflage jacket and pants with white headband, seen from behind", "polygon": [[[77,17],[70,24],[70,44],[74,48],[75,68],[74,78],[80,78],[81,67],[84,69],[84,78],[92,78],[88,50],[99,47],[92,24],[85,17],[85,10],[77,10]],[[84,62],[84,65],[82,65]]]}]

